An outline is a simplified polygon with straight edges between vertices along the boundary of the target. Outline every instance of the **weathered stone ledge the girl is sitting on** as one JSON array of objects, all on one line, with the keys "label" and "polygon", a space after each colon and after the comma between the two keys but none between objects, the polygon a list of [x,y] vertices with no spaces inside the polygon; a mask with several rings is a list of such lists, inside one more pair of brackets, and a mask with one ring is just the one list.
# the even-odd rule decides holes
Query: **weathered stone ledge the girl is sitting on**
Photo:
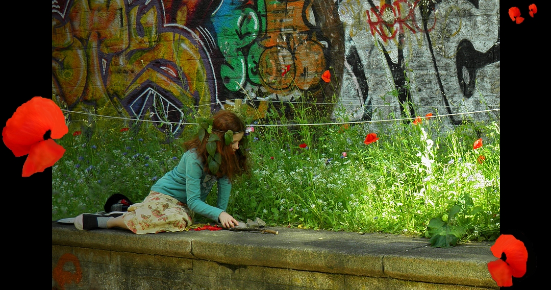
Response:
[{"label": "weathered stone ledge the girl is sitting on", "polygon": [[[444,285],[446,289],[498,288],[486,267],[489,261],[495,260],[489,250],[490,243],[437,249],[430,247],[428,239],[401,235],[271,229],[278,230],[279,234],[203,230],[136,235],[126,230],[83,232],[72,225],[52,222],[52,270],[58,264],[61,253],[66,251],[85,261],[87,267],[95,269],[90,271],[97,272],[96,276],[103,270],[112,275],[125,276],[137,268],[159,271],[155,270],[159,265],[165,265],[163,268],[170,265],[164,270],[187,271],[193,273],[193,277],[203,277],[203,280],[196,281],[190,275],[176,275],[174,279],[187,281],[185,289],[210,288],[214,285],[230,289],[255,289],[251,288],[251,283],[266,284],[267,288],[279,285],[274,281],[261,282],[263,280],[256,277],[258,275],[287,277],[283,278],[281,287],[276,288],[290,289],[308,288],[310,282],[301,284],[296,281],[310,281],[312,277],[327,280],[327,283],[324,282],[326,285],[333,285],[327,289],[349,289],[350,283],[346,281],[372,281],[371,288],[365,289],[377,289],[372,287],[377,284],[392,289],[422,289],[425,286],[439,289]],[[127,259],[123,258],[125,255]],[[112,258],[116,256],[118,260]],[[121,259],[127,260],[124,266]],[[132,261],[140,265],[133,265]],[[207,271],[207,268],[217,270]],[[170,275],[164,279],[171,279],[167,277]],[[233,282],[226,281],[228,277]],[[151,283],[155,283],[155,279]],[[168,286],[170,283],[165,281],[163,284]],[[206,286],[201,286],[203,284]],[[167,289],[172,288],[174,285]],[[126,287],[121,286],[120,289]]]}]

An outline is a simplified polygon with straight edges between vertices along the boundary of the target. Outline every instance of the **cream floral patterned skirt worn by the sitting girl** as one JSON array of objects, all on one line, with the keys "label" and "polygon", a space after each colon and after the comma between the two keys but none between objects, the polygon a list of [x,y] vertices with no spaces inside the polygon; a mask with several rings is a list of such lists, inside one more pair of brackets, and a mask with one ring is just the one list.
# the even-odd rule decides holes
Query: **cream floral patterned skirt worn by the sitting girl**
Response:
[{"label": "cream floral patterned skirt worn by the sitting girl", "polygon": [[193,224],[193,212],[176,198],[152,190],[143,202],[129,207],[122,220],[135,234],[183,232]]}]

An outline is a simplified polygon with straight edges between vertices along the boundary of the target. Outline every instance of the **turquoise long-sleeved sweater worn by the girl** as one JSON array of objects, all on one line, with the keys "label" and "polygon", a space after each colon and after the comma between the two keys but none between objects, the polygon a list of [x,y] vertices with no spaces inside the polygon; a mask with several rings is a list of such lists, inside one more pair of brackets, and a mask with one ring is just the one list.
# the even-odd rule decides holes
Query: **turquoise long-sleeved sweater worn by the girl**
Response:
[{"label": "turquoise long-sleeved sweater worn by the girl", "polygon": [[[216,181],[218,181],[218,198],[217,206],[213,207],[207,205],[205,201]],[[226,176],[218,179],[215,175],[206,174],[203,171],[201,159],[192,149],[183,154],[176,168],[159,179],[151,190],[170,195],[186,203],[191,211],[219,222],[218,216],[228,206],[231,183]]]}]

